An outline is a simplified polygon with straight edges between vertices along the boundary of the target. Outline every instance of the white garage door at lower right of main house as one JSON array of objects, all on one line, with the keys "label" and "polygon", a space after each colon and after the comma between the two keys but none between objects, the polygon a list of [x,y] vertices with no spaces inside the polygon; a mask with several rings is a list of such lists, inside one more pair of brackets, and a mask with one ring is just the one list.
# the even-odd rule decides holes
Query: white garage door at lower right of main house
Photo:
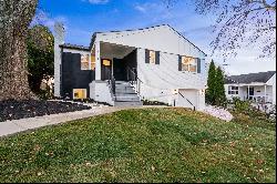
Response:
[{"label": "white garage door at lower right of main house", "polygon": [[178,98],[176,102],[176,106],[197,109],[198,102],[198,92],[197,90],[178,90]]}]

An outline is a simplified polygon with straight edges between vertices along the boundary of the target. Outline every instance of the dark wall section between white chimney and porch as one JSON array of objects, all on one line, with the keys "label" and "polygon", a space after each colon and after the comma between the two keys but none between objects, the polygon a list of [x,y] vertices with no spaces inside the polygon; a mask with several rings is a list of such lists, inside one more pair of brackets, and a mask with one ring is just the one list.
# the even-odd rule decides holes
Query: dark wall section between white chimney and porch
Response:
[{"label": "dark wall section between white chimney and porch", "polygon": [[62,88],[61,95],[73,98],[73,89],[86,89],[86,98],[90,96],[90,83],[95,80],[95,71],[81,70],[81,54],[62,54]]}]

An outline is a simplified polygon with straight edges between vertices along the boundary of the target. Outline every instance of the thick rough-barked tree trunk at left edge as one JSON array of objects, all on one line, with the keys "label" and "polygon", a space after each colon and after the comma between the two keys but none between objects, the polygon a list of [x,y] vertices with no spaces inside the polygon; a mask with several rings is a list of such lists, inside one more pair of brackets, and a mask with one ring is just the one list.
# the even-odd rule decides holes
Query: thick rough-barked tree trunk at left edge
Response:
[{"label": "thick rough-barked tree trunk at left edge", "polygon": [[0,101],[33,99],[28,83],[27,33],[38,0],[0,0]]}]

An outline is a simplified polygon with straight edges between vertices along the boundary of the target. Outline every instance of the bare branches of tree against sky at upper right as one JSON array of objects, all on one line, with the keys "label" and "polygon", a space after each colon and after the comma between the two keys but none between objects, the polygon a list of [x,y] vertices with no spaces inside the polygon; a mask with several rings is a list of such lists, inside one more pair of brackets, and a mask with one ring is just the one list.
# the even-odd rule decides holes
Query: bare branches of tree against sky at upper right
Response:
[{"label": "bare branches of tree against sky at upper right", "polygon": [[[165,0],[173,4],[176,0]],[[259,57],[276,58],[275,0],[192,0],[196,12],[217,16],[213,54],[237,54],[245,47],[260,49]]]}]

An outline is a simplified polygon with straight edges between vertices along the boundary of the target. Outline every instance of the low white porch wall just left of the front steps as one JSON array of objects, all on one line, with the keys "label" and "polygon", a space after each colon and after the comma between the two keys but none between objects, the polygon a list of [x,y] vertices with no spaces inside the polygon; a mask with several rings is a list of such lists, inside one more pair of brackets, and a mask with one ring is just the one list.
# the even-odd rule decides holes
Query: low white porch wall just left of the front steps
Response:
[{"label": "low white porch wall just left of the front steps", "polygon": [[90,98],[96,102],[105,102],[110,105],[114,105],[114,101],[112,100],[112,95],[110,92],[110,86],[105,81],[93,81],[90,84]]}]

